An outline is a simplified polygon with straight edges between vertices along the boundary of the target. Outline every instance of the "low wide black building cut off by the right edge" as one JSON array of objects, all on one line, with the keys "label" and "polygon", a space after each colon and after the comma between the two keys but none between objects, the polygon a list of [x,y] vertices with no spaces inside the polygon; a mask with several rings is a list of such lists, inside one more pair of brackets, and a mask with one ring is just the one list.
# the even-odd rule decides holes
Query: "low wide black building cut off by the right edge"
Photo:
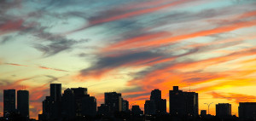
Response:
[{"label": "low wide black building cut off by the right edge", "polygon": [[239,118],[256,121],[256,102],[239,102]]}]

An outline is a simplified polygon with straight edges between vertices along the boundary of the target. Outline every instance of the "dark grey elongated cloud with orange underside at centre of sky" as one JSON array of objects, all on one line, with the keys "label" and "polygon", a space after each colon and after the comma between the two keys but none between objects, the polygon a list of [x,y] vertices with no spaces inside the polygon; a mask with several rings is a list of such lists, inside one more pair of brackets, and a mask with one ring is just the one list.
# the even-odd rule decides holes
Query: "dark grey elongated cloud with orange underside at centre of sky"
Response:
[{"label": "dark grey elongated cloud with orange underside at centre of sky", "polygon": [[101,77],[102,74],[121,66],[140,66],[161,55],[152,52],[135,52],[118,56],[102,56],[91,67],[80,71],[80,76]]}]

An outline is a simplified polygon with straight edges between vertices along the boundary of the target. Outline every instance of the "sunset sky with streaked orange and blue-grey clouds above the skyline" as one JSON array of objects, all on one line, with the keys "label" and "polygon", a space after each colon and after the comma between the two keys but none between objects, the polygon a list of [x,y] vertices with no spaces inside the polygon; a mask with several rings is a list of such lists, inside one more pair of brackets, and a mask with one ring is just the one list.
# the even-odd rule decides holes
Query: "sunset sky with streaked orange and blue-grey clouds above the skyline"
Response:
[{"label": "sunset sky with streaked orange and blue-grey clouds above the skyline", "polygon": [[256,101],[256,0],[1,0],[3,89],[27,89],[38,118],[49,84],[122,93],[143,109],[150,91],[204,103]]}]

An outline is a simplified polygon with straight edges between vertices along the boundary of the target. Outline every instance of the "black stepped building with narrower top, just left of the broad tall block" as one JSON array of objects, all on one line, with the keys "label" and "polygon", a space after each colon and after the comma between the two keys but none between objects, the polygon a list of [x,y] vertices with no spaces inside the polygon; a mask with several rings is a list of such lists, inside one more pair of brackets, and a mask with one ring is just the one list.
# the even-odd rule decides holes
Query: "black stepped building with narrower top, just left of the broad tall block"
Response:
[{"label": "black stepped building with narrower top, just left of the broad tall block", "polygon": [[161,99],[160,89],[151,91],[150,100],[145,101],[145,114],[166,114],[166,100]]}]

